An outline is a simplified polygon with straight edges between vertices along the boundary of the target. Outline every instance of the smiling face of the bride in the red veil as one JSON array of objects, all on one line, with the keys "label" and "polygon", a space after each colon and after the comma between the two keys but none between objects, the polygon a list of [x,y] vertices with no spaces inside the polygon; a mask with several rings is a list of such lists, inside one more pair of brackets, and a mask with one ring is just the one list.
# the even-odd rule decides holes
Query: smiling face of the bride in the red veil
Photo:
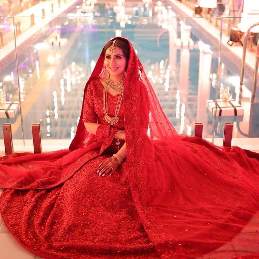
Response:
[{"label": "smiling face of the bride in the red veil", "polygon": [[108,48],[105,53],[104,66],[110,73],[111,79],[122,79],[127,66],[127,59],[123,55],[122,49],[116,46],[116,51],[112,53]]}]

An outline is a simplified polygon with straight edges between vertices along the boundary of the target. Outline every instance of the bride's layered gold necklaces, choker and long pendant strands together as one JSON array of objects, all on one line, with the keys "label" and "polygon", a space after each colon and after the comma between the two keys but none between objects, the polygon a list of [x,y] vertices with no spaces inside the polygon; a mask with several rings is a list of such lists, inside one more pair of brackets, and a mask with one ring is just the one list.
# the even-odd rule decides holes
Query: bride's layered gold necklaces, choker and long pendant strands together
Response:
[{"label": "bride's layered gold necklaces, choker and long pendant strands together", "polygon": [[[123,87],[124,87],[124,78],[120,81],[113,81],[110,79],[110,75],[106,75],[105,80],[106,86],[103,88],[103,110],[104,110],[104,119],[107,123],[114,125],[119,122],[119,111],[123,100]],[[114,117],[108,115],[108,89],[111,87],[116,92],[120,92],[118,95],[117,105],[115,109]]]}]

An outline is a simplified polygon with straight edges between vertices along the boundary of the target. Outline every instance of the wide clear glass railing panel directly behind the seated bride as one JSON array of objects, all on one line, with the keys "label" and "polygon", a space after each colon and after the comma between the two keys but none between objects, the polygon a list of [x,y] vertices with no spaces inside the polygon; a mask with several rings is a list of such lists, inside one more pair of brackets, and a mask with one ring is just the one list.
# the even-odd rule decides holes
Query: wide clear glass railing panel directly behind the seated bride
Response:
[{"label": "wide clear glass railing panel directly behind the seated bride", "polygon": [[[193,134],[203,123],[203,136],[213,136],[219,31],[207,37],[205,18],[57,17],[44,27],[27,30],[30,44],[18,48],[24,136],[40,123],[42,139],[73,138],[81,112],[83,89],[105,42],[128,38],[178,133]],[[24,24],[31,17],[19,18]],[[37,29],[38,28],[38,29]],[[18,39],[17,39],[18,40]],[[19,130],[21,130],[21,125]]]}]

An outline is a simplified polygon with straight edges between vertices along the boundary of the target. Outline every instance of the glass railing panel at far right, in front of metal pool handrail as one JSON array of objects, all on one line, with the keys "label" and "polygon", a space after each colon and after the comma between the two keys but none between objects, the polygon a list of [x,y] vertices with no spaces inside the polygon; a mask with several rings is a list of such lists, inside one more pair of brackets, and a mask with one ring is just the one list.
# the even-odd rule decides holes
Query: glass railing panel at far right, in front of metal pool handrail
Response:
[{"label": "glass railing panel at far right, in front of metal pool handrail", "polygon": [[[223,18],[223,26],[231,25],[231,27],[222,34],[218,88],[220,102],[217,108],[215,135],[222,137],[224,123],[233,123],[233,145],[258,145],[258,141],[251,138],[259,137],[258,80],[254,83],[255,74],[258,78],[258,67],[257,69],[255,67],[258,59],[259,26],[248,33],[247,47],[243,48],[245,33],[255,22],[254,18]],[[243,49],[246,55],[244,62],[242,62]],[[244,70],[240,79],[242,67]]]}]

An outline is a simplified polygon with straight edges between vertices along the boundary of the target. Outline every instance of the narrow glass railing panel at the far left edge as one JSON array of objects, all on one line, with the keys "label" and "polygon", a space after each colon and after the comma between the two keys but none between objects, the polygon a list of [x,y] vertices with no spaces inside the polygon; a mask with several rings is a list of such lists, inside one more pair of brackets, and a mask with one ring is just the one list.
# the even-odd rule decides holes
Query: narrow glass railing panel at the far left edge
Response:
[{"label": "narrow glass railing panel at the far left edge", "polygon": [[0,23],[0,140],[3,141],[2,125],[11,123],[13,145],[23,145],[14,41],[15,23],[12,17],[2,18]]}]

